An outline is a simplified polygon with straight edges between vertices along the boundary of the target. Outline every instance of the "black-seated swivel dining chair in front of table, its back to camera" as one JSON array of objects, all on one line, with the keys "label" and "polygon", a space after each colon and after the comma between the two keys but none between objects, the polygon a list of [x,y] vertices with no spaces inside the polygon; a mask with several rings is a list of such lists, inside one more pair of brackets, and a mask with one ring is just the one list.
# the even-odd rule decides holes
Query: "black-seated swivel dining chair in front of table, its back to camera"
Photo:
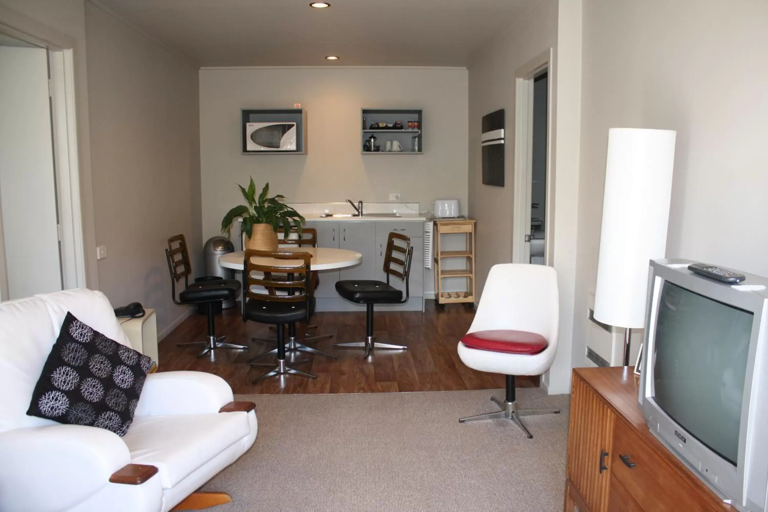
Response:
[{"label": "black-seated swivel dining chair in front of table, its back to camera", "polygon": [[[250,358],[248,364],[271,366],[270,363],[253,362],[253,359],[272,352],[277,354],[277,364],[271,372],[254,378],[254,383],[263,378],[286,373],[316,378],[315,375],[300,372],[286,365],[286,325],[295,334],[296,322],[309,323],[315,309],[314,280],[310,270],[311,258],[310,253],[251,249],[245,251],[245,261],[243,262],[243,322],[250,320],[276,326],[277,348]],[[263,291],[256,291],[254,288],[263,289]],[[300,365],[305,362],[309,362],[309,360],[294,361],[292,364]]]}]

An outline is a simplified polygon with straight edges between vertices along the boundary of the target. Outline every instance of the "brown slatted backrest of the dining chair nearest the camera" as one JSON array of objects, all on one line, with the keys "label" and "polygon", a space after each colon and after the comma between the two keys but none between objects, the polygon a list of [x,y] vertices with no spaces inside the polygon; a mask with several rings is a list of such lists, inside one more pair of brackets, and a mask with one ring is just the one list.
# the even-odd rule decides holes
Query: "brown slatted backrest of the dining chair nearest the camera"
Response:
[{"label": "brown slatted backrest of the dining chair nearest the camera", "polygon": [[[244,298],[268,302],[308,301],[314,289],[310,271],[311,258],[310,253],[247,249],[243,257]],[[276,259],[286,260],[286,263],[276,263]],[[254,273],[261,276],[254,276]],[[280,273],[280,276],[273,277],[272,273]],[[253,286],[262,286],[267,292],[254,292],[251,289]],[[286,292],[286,295],[278,295],[278,291]]]}]

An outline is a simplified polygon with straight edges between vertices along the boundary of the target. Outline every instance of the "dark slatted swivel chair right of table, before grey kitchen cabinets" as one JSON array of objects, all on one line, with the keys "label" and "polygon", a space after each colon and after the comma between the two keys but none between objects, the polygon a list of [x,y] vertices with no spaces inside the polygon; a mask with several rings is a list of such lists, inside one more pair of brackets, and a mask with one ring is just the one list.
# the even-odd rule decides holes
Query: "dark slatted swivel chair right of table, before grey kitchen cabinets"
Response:
[{"label": "dark slatted swivel chair right of table, before grey kitchen cabinets", "polygon": [[[396,254],[398,253],[398,254]],[[375,304],[403,304],[408,302],[409,288],[408,278],[411,273],[411,258],[413,247],[411,239],[400,233],[389,233],[386,243],[386,256],[384,257],[384,273],[386,282],[346,280],[336,282],[336,292],[344,299],[366,305],[366,341],[352,343],[334,343],[336,347],[362,347],[366,349],[363,357],[372,354],[374,348],[394,348],[403,350],[405,345],[390,345],[379,343],[373,337],[373,306]],[[399,270],[398,270],[399,268]],[[406,283],[406,296],[402,296],[402,290],[389,284],[389,276],[395,276]]]}]

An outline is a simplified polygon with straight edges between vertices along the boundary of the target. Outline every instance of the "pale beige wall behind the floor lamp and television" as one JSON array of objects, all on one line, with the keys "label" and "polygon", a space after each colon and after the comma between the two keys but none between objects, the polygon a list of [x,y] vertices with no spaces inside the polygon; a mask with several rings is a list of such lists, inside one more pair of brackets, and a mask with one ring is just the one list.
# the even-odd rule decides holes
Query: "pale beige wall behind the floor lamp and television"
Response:
[{"label": "pale beige wall behind the floor lamp and television", "polygon": [[768,3],[584,0],[577,325],[584,365],[610,127],[677,130],[667,257],[768,276]]}]

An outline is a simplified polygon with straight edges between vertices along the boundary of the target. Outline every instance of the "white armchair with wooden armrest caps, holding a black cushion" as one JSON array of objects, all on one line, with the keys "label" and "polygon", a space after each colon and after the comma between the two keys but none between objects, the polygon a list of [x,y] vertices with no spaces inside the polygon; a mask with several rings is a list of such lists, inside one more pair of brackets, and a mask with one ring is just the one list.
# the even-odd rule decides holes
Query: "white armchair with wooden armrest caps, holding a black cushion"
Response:
[{"label": "white armchair with wooden armrest caps, holding a black cushion", "polygon": [[[255,412],[220,412],[233,401],[232,390],[203,372],[147,375],[123,438],[26,415],[68,311],[130,346],[101,292],[67,290],[0,302],[0,510],[165,512],[256,440]],[[128,464],[154,466],[157,473],[141,484],[111,483]]]}]

